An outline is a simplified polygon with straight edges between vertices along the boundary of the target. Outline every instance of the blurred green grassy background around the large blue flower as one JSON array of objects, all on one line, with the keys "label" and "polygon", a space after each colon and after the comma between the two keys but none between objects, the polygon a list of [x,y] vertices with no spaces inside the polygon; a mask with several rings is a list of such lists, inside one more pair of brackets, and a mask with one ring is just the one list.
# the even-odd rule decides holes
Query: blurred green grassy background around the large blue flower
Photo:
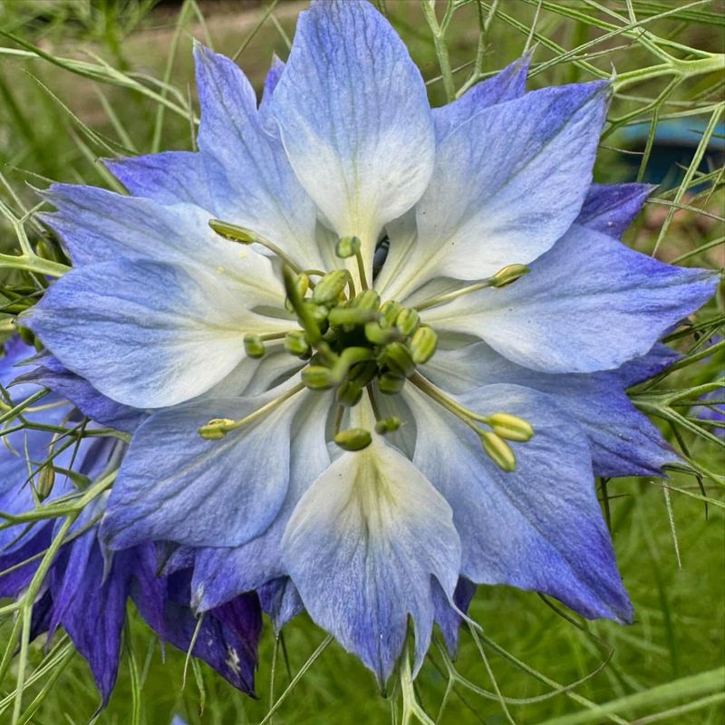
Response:
[{"label": "blurred green grassy background around the large blue flower", "polygon": [[[0,198],[21,217],[37,204],[30,185],[43,188],[58,180],[114,188],[99,158],[193,148],[198,109],[191,38],[236,57],[259,89],[272,54],[286,57],[296,15],[305,5],[253,0],[0,2]],[[593,80],[613,70],[626,78],[627,73],[662,64],[652,45],[680,59],[697,57],[693,51],[725,52],[725,5],[718,2],[463,0],[455,3],[438,53],[418,0],[380,0],[377,5],[408,44],[435,105],[446,100],[441,48],[448,51],[456,88],[472,72],[477,73],[475,80],[500,70],[527,47],[535,47],[531,88]],[[440,20],[445,7],[438,4]],[[652,41],[648,33],[658,40]],[[723,88],[725,74],[720,70],[691,77],[645,73],[618,90],[595,178],[662,183],[625,237],[640,251],[688,266],[723,265]],[[693,161],[698,146],[701,158]],[[28,230],[34,241],[42,234],[32,220]],[[5,218],[0,221],[0,249],[15,244]],[[4,278],[6,290],[20,284],[14,275]],[[673,343],[685,353],[702,351],[719,339],[721,319],[720,299],[694,321],[699,327],[684,331]],[[657,385],[694,387],[721,372],[721,358],[704,357]],[[697,420],[702,409],[677,410],[685,420]],[[606,486],[614,544],[636,623],[585,623],[556,612],[536,594],[480,587],[471,615],[500,651],[492,644],[485,647],[488,671],[470,634],[461,634],[455,666],[484,692],[454,681],[440,723],[715,725],[725,720],[725,675],[718,670],[725,663],[725,460],[722,449],[676,418],[662,421],[662,430],[699,461],[699,478],[680,471],[666,481],[621,479]],[[722,433],[717,422],[702,430]],[[9,628],[5,622],[0,637]],[[132,657],[121,664],[111,705],[97,722],[166,725],[175,713],[205,725],[259,722],[323,639],[324,633],[306,617],[286,628],[273,691],[275,642],[267,626],[259,699],[252,701],[206,665],[190,668],[182,687],[184,654],[167,647],[164,655],[132,613]],[[36,643],[32,659],[31,668],[42,662],[43,643]],[[574,694],[546,697],[585,678],[607,659]],[[140,694],[131,683],[133,669],[140,677]],[[26,704],[46,680],[47,675],[38,678],[26,691]],[[417,682],[420,702],[433,720],[448,685],[443,661],[433,648]],[[497,688],[514,699],[508,713]],[[12,677],[0,683],[2,722],[9,722],[2,699],[12,696],[13,689]],[[332,644],[271,721],[389,722],[395,714],[394,695],[382,697],[372,675]],[[609,710],[592,710],[584,699]],[[75,656],[27,721],[85,723],[97,705],[90,673]]]}]

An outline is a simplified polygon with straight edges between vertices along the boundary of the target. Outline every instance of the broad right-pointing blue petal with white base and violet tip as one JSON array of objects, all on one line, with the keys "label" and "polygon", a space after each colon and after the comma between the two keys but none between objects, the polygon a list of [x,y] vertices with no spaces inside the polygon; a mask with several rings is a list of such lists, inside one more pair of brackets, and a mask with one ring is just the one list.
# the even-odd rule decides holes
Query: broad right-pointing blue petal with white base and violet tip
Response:
[{"label": "broad right-pointing blue petal with white base and violet tip", "polygon": [[532,370],[612,370],[648,353],[710,299],[718,280],[716,272],[665,265],[575,225],[514,284],[459,297],[423,319],[474,334]]}]

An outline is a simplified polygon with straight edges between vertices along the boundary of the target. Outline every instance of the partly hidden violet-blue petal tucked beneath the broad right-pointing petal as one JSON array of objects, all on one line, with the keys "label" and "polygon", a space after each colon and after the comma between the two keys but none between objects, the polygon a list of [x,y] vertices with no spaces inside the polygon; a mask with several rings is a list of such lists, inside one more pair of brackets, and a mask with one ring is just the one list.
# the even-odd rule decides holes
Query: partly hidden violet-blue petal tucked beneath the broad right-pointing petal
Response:
[{"label": "partly hidden violet-blue petal tucked beneath the broad right-pointing petal", "polygon": [[[548,374],[523,368],[508,361],[485,343],[459,350],[441,350],[425,367],[432,382],[447,391],[468,392],[481,385],[512,383],[546,392],[556,399],[584,430],[592,449],[597,476],[661,476],[662,466],[678,459],[662,433],[643,413],[634,408],[625,389],[633,384],[628,375],[640,380],[644,371],[659,372],[672,355],[656,345],[642,359],[623,369],[592,374]],[[632,367],[630,367],[632,366]]]}]

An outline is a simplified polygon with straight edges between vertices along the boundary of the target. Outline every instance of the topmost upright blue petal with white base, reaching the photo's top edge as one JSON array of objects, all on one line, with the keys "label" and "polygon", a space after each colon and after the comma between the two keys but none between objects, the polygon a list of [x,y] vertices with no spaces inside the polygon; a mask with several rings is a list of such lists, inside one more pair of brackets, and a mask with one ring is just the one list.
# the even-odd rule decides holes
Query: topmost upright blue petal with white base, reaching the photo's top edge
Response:
[{"label": "topmost upright blue petal with white base, reaching the photo's top edge", "polygon": [[372,255],[384,224],[420,198],[434,135],[420,72],[387,20],[362,0],[301,13],[273,112],[304,189],[340,236]]}]

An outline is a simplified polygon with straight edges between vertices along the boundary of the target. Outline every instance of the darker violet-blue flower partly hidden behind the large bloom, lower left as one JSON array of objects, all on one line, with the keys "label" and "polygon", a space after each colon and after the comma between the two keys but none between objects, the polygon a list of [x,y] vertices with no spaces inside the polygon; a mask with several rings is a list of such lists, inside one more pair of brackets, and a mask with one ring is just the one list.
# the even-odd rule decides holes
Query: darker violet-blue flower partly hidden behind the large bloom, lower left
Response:
[{"label": "darker violet-blue flower partly hidden behind the large bloom, lower left", "polygon": [[[12,382],[19,372],[15,363],[33,353],[32,347],[12,338],[0,359],[0,384],[5,387]],[[20,378],[25,384],[13,388],[16,401],[38,390],[28,382],[43,379],[64,385],[82,401],[91,401],[117,427],[131,420],[129,410],[112,401],[103,402],[87,382],[63,371],[57,361],[44,362],[42,368]],[[77,493],[72,478],[80,481],[102,475],[122,446],[112,439],[73,443],[68,436],[53,435],[42,427],[58,427],[74,418],[82,420],[82,416],[57,394],[43,398],[38,405],[42,405],[39,410],[26,412],[36,428],[4,436],[5,445],[0,449],[0,510],[6,514],[33,510],[38,498],[50,500]],[[63,626],[89,663],[105,706],[118,675],[126,603],[131,597],[163,642],[187,651],[194,641],[195,656],[237,688],[253,691],[261,629],[256,594],[237,596],[198,623],[189,608],[189,570],[157,575],[159,556],[151,543],[112,554],[104,551],[98,536],[104,503],[103,497],[96,498],[83,509],[67,543],[53,560],[34,602],[31,639],[43,632],[50,638]],[[62,523],[63,518],[51,518],[30,528],[19,523],[0,530],[0,597],[24,594]]]}]

